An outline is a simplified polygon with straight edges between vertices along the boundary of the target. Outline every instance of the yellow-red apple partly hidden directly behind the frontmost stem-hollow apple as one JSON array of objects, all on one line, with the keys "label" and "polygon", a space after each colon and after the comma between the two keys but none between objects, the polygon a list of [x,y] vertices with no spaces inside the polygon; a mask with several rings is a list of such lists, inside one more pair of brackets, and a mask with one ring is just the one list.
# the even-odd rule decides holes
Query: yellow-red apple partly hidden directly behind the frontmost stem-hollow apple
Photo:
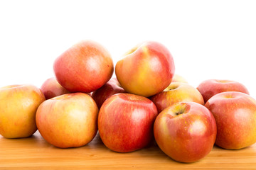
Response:
[{"label": "yellow-red apple partly hidden directly behind the frontmost stem-hollow apple", "polygon": [[159,113],[177,102],[196,102],[204,105],[203,96],[193,86],[185,83],[171,83],[164,91],[151,96]]}]

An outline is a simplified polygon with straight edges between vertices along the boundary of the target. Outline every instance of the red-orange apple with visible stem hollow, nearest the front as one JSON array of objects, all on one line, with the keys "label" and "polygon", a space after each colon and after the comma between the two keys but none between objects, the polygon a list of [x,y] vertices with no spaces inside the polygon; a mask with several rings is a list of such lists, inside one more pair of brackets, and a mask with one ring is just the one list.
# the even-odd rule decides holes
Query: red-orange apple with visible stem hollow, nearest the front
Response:
[{"label": "red-orange apple with visible stem hollow, nearest the front", "polygon": [[174,103],[154,123],[154,137],[160,149],[178,162],[196,162],[211,151],[216,123],[205,106],[194,102]]}]

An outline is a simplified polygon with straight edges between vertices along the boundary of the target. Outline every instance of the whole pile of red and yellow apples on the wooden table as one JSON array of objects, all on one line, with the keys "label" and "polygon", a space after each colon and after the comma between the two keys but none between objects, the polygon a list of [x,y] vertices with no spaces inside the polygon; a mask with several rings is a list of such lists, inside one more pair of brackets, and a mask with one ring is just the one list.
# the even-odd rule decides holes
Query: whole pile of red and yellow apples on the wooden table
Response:
[{"label": "whole pile of red and yellow apples on the wooden table", "polygon": [[55,78],[38,89],[0,89],[0,134],[81,147],[97,130],[106,147],[133,152],[156,140],[178,162],[196,162],[218,145],[256,142],[256,101],[237,81],[206,80],[198,88],[174,75],[174,60],[158,42],[144,42],[115,66],[102,45],[82,41],[53,65]]}]

